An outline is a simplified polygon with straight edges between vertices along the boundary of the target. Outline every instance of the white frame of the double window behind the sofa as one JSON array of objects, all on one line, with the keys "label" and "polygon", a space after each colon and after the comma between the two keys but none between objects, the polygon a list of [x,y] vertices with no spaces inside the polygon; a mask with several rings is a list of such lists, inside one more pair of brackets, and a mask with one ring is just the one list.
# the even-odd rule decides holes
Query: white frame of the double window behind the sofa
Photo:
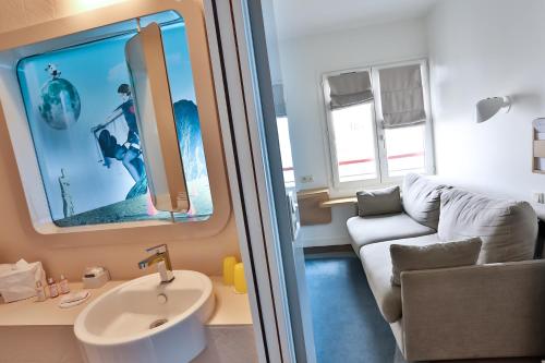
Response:
[{"label": "white frame of the double window behind the sofa", "polygon": [[[388,159],[386,149],[386,137],[385,128],[383,126],[383,112],[380,104],[380,82],[379,82],[379,71],[389,68],[397,68],[403,65],[420,64],[421,76],[422,76],[422,89],[424,92],[424,110],[426,112],[426,121],[424,124],[424,174],[435,174],[435,149],[434,149],[434,131],[433,131],[433,119],[432,119],[432,107],[431,107],[431,89],[429,89],[429,70],[427,59],[419,58],[405,61],[388,62],[368,65],[365,68],[342,70],[336,72],[327,72],[322,76],[322,88],[324,95],[324,107],[326,112],[326,144],[328,145],[329,154],[329,173],[330,173],[330,186],[332,187],[334,194],[349,194],[362,190],[362,187],[380,187],[385,185],[400,184],[403,177],[389,177],[388,176]],[[335,129],[332,123],[332,111],[329,107],[329,86],[327,78],[334,75],[339,75],[350,72],[363,72],[367,71],[371,75],[371,84],[373,88],[373,131],[374,131],[374,142],[375,142],[375,157],[376,157],[376,172],[377,178],[372,180],[359,180],[350,182],[341,182],[339,178],[338,158],[337,158],[337,146],[335,144]],[[353,194],[353,193],[352,193]]]}]

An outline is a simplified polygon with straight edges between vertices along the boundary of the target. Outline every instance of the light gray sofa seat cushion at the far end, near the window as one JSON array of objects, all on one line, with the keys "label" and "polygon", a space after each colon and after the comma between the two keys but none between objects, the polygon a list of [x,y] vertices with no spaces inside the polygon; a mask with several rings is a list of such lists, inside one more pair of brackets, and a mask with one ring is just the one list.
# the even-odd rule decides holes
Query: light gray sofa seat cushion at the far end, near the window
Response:
[{"label": "light gray sofa seat cushion at the far end, near the window", "polygon": [[347,220],[347,227],[356,254],[365,244],[436,233],[436,230],[420,225],[404,213],[352,217]]}]

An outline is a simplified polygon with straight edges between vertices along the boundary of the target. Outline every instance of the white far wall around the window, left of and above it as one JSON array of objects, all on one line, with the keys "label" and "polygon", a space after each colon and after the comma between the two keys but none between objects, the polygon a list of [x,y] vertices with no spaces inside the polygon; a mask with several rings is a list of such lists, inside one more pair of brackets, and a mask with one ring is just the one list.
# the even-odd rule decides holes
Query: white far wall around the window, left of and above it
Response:
[{"label": "white far wall around the window, left of and above it", "polygon": [[[280,14],[277,14],[280,15]],[[280,61],[290,120],[298,190],[331,186],[322,75],[427,56],[426,23],[413,19],[280,40]],[[301,177],[314,182],[302,184]],[[336,207],[332,222],[303,227],[301,243],[350,243],[346,220],[353,206]]]}]

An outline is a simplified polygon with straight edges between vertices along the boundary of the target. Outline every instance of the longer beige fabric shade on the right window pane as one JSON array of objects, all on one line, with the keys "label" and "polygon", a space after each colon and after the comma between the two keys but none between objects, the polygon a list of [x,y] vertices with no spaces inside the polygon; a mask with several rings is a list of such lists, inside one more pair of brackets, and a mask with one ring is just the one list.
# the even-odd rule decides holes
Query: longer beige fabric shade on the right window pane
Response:
[{"label": "longer beige fabric shade on the right window pane", "polygon": [[386,129],[426,122],[420,64],[379,70],[378,76]]}]

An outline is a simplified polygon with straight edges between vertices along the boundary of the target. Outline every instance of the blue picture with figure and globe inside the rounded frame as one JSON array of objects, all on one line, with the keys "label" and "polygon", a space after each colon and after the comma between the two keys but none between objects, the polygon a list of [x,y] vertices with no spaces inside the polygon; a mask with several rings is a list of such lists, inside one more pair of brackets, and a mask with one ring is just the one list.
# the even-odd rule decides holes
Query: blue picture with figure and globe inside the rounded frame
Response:
[{"label": "blue picture with figure and globe inside the rounded frame", "polygon": [[[169,12],[171,16],[172,12]],[[190,196],[178,221],[213,213],[185,26],[161,26]],[[17,75],[53,221],[70,227],[171,219],[153,207],[124,46],[135,33],[32,56]]]}]

